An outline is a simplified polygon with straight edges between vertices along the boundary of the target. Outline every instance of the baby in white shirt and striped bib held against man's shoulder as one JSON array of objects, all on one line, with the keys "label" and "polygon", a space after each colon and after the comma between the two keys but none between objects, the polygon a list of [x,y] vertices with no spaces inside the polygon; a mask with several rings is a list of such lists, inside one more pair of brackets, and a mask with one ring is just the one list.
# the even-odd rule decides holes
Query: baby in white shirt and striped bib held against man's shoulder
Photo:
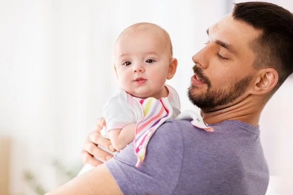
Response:
[{"label": "baby in white shirt and striped bib held against man's shoulder", "polygon": [[121,90],[105,104],[106,127],[101,133],[117,151],[134,141],[139,167],[156,129],[180,114],[179,96],[165,84],[176,72],[177,59],[168,33],[152,23],[126,28],[116,40],[114,56]]}]

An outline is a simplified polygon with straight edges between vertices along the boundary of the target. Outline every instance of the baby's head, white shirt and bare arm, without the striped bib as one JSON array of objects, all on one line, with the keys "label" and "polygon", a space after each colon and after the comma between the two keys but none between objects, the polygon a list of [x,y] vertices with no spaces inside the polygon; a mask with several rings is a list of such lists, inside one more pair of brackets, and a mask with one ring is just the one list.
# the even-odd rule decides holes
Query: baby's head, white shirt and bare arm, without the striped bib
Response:
[{"label": "baby's head, white shirt and bare arm, without the striped bib", "polygon": [[136,125],[142,118],[140,105],[133,105],[133,97],[167,97],[173,118],[180,113],[180,102],[176,91],[165,85],[176,72],[177,59],[172,58],[171,40],[164,29],[151,23],[126,28],[116,41],[114,56],[122,90],[108,100],[104,117],[108,137],[120,151],[133,141]]}]

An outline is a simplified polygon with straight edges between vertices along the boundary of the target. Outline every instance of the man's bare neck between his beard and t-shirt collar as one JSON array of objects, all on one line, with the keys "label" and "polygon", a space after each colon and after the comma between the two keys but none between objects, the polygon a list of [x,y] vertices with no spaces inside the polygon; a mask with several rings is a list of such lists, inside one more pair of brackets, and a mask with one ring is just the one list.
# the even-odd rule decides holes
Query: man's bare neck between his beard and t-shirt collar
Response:
[{"label": "man's bare neck between his beard and t-shirt collar", "polygon": [[258,125],[263,108],[264,104],[255,101],[252,96],[248,96],[238,103],[222,109],[211,112],[201,110],[201,116],[208,124],[214,124],[224,120],[240,120],[251,125]]}]

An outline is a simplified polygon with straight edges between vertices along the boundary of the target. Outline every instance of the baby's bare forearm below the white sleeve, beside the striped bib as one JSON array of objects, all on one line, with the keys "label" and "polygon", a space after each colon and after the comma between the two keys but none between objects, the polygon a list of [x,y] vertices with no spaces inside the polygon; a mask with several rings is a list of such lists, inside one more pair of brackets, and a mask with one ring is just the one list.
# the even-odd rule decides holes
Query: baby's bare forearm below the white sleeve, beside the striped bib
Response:
[{"label": "baby's bare forearm below the white sleeve, beside the striped bib", "polygon": [[123,129],[112,129],[108,132],[113,147],[120,152],[135,138],[136,123],[126,125]]}]

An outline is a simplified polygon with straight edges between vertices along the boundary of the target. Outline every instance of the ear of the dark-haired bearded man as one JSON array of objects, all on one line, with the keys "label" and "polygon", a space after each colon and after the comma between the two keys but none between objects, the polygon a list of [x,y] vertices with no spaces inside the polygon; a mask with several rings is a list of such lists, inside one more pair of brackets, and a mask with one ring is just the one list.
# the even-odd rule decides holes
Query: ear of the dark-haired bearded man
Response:
[{"label": "ear of the dark-haired bearded man", "polygon": [[274,68],[261,69],[253,83],[251,94],[262,95],[269,93],[278,83],[278,79],[278,72]]}]

